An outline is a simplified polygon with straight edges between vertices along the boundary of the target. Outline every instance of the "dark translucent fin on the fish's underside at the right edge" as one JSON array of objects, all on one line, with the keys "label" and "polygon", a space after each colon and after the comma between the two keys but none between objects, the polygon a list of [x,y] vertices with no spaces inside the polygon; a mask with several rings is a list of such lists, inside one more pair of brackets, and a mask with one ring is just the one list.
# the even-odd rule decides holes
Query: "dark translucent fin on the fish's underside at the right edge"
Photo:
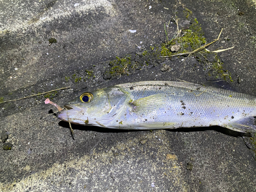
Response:
[{"label": "dark translucent fin on the fish's underside at the right edge", "polygon": [[223,126],[227,127],[230,130],[242,133],[256,132],[254,117],[246,117],[243,119],[239,119],[237,121],[224,124]]}]

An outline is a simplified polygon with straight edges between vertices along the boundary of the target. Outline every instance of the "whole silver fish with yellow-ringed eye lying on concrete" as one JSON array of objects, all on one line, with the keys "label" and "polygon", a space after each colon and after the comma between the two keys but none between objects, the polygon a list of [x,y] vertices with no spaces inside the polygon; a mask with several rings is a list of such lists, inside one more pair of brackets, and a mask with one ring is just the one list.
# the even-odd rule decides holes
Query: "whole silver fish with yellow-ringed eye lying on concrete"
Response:
[{"label": "whole silver fish with yellow-ringed eye lying on concrete", "polygon": [[70,123],[110,129],[218,125],[251,133],[256,131],[256,97],[191,82],[128,82],[84,92],[60,108],[56,116]]}]

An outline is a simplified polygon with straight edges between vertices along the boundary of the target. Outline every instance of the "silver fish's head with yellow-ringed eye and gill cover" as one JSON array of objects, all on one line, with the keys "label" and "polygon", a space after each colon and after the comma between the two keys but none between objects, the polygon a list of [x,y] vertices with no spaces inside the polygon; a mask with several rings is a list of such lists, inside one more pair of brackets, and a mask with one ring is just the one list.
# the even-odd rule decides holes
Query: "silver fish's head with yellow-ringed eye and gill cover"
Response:
[{"label": "silver fish's head with yellow-ringed eye and gill cover", "polygon": [[64,105],[56,115],[75,124],[107,126],[126,100],[118,88],[104,88],[85,92]]}]

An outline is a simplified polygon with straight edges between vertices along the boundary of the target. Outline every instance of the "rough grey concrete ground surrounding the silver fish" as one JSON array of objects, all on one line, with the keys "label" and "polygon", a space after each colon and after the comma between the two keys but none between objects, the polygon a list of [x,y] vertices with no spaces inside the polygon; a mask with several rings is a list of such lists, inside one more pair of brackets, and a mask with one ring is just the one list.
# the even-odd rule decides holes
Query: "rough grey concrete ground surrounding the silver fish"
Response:
[{"label": "rough grey concrete ground surrounding the silver fish", "polygon": [[[74,140],[69,124],[44,103],[63,106],[84,91],[142,80],[226,78],[256,96],[255,9],[249,0],[1,1],[0,101],[70,88],[0,104],[0,191],[256,191],[253,135],[218,126],[73,125]],[[235,47],[161,57],[163,42],[177,32],[175,16],[181,35],[196,18],[207,43],[224,28],[208,50]],[[136,68],[113,71],[125,58]]]}]

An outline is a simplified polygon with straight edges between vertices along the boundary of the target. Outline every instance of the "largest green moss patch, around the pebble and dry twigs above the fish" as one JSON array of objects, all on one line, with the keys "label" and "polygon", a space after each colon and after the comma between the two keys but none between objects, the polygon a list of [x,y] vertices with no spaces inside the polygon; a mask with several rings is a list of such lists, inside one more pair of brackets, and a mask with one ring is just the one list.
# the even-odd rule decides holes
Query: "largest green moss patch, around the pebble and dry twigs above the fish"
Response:
[{"label": "largest green moss patch, around the pebble and dry twigs above the fish", "polygon": [[[186,18],[188,18],[191,16],[192,12],[185,9],[184,14],[186,14]],[[193,23],[187,29],[181,30],[181,34],[178,37],[173,37],[172,40],[162,44],[160,54],[164,57],[170,57],[180,53],[192,52],[205,44],[206,39],[204,37],[204,32],[201,25],[198,23],[197,18],[194,18]],[[180,47],[178,52],[174,52],[172,50],[172,47],[174,46]],[[199,64],[203,66],[204,71],[206,74],[208,73],[209,76],[213,76],[216,79],[229,79],[230,81],[233,81],[231,79],[230,72],[224,69],[223,62],[221,62],[217,53],[211,53],[203,49],[193,55],[198,60]],[[183,57],[187,57],[187,55]]]}]

